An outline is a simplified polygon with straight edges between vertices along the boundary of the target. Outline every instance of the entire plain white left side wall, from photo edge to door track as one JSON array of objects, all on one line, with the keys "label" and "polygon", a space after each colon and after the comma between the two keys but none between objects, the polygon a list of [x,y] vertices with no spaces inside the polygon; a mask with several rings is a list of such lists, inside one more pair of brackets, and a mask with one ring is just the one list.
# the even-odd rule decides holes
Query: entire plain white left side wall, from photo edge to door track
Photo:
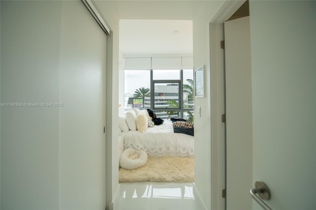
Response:
[{"label": "entire plain white left side wall, from photo edge to door track", "polygon": [[104,210],[106,36],[81,1],[1,1],[1,209]]}]

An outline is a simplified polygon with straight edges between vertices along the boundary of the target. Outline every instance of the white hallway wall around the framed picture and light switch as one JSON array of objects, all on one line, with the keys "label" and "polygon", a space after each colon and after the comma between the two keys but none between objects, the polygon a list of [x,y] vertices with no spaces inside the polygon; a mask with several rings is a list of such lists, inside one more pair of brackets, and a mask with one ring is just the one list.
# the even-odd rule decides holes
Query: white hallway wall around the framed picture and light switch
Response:
[{"label": "white hallway wall around the framed picture and light switch", "polygon": [[[204,65],[204,98],[195,98],[195,185],[206,209],[211,208],[211,108],[210,108],[210,31],[209,23],[225,1],[218,1],[217,8],[205,1],[193,18],[193,60],[194,68]],[[213,15],[211,15],[213,14]],[[201,107],[201,116],[197,115]]]}]

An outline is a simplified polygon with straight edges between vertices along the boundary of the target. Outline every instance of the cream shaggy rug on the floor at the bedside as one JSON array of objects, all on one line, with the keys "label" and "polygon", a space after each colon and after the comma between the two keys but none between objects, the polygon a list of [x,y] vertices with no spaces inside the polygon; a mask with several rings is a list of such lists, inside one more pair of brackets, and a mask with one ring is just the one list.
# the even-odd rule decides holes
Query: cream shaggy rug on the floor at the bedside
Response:
[{"label": "cream shaggy rug on the floor at the bedside", "polygon": [[194,158],[148,157],[145,166],[118,171],[119,182],[194,182]]}]

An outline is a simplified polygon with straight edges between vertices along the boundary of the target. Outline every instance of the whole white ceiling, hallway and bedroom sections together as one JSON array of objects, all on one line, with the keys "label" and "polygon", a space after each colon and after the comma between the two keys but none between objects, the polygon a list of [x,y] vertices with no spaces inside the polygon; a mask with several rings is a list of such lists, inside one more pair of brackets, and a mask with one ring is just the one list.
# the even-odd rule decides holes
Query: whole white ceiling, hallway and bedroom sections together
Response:
[{"label": "whole white ceiling, hallway and bedroom sections together", "polygon": [[119,49],[123,54],[192,55],[192,20],[203,14],[201,20],[209,23],[225,1],[96,0],[95,3],[101,13],[113,14],[113,19],[111,16],[107,19],[110,27],[119,20]]}]

